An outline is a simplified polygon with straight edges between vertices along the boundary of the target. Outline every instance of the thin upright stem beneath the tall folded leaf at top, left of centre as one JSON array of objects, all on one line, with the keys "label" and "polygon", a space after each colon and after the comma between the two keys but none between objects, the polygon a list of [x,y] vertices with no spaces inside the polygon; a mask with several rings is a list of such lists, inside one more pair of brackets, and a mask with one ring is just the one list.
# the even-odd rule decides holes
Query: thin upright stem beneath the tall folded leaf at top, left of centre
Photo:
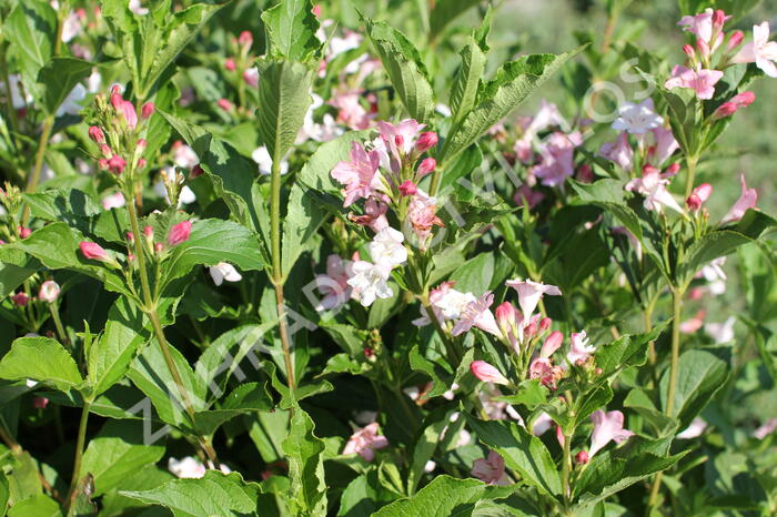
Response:
[{"label": "thin upright stem beneath the tall folded leaf at top, left of centre", "polygon": [[[278,154],[278,153],[276,153]],[[294,364],[291,357],[291,344],[289,327],[286,326],[286,303],[283,297],[283,270],[281,268],[281,156],[274,156],[272,161],[272,178],[270,183],[270,244],[272,247],[272,283],[275,287],[275,304],[278,306],[278,330],[281,334],[283,346],[283,361],[286,366],[286,383],[293,393],[296,389],[294,381]]]}]

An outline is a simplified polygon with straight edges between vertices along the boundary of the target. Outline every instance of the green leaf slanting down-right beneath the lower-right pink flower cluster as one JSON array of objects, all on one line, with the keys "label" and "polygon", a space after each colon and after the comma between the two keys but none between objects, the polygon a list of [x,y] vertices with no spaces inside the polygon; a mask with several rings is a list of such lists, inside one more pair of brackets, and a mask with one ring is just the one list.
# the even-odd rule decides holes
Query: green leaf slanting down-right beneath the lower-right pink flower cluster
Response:
[{"label": "green leaf slanting down-right beneath the lower-right pink flower cluster", "polygon": [[514,422],[480,420],[466,415],[481,442],[496,450],[505,465],[523,480],[548,496],[562,493],[562,481],[551,453],[539,438]]}]

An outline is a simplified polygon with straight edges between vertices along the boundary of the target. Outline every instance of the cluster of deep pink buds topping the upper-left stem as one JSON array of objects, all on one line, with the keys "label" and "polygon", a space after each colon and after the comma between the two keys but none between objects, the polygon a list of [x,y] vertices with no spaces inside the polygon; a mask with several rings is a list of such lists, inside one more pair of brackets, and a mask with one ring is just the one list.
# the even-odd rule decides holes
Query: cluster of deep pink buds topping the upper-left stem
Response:
[{"label": "cluster of deep pink buds topping the upper-left stem", "polygon": [[143,104],[138,116],[134,104],[124,100],[118,84],[111,89],[109,100],[98,95],[94,102],[97,124],[89,128],[89,138],[100,150],[100,169],[110,171],[119,181],[128,168],[130,171],[144,169],[147,141],[142,135],[157,110],[154,104]]}]

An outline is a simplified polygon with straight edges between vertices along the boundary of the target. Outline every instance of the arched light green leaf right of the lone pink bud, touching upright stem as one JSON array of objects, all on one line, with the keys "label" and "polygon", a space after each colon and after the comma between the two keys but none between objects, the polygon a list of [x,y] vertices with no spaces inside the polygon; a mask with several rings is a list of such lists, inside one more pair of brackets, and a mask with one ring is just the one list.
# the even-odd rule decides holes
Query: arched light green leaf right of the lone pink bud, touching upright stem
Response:
[{"label": "arched light green leaf right of the lone pink bud, touching upright stem", "polygon": [[261,270],[264,262],[259,236],[232,221],[195,221],[189,240],[172,251],[167,280],[183,276],[196,265],[211,266],[219,262],[229,262],[243,271]]}]

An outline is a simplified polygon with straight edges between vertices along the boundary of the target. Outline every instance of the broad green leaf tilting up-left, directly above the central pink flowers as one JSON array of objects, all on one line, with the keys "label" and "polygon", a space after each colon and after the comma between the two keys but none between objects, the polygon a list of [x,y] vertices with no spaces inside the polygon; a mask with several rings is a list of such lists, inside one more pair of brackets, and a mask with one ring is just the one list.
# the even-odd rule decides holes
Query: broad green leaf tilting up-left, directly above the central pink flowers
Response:
[{"label": "broad green leaf tilting up-left, directly above the central pink flowers", "polygon": [[367,36],[407,113],[427,123],[434,114],[434,92],[418,50],[405,34],[387,23],[365,22]]}]

